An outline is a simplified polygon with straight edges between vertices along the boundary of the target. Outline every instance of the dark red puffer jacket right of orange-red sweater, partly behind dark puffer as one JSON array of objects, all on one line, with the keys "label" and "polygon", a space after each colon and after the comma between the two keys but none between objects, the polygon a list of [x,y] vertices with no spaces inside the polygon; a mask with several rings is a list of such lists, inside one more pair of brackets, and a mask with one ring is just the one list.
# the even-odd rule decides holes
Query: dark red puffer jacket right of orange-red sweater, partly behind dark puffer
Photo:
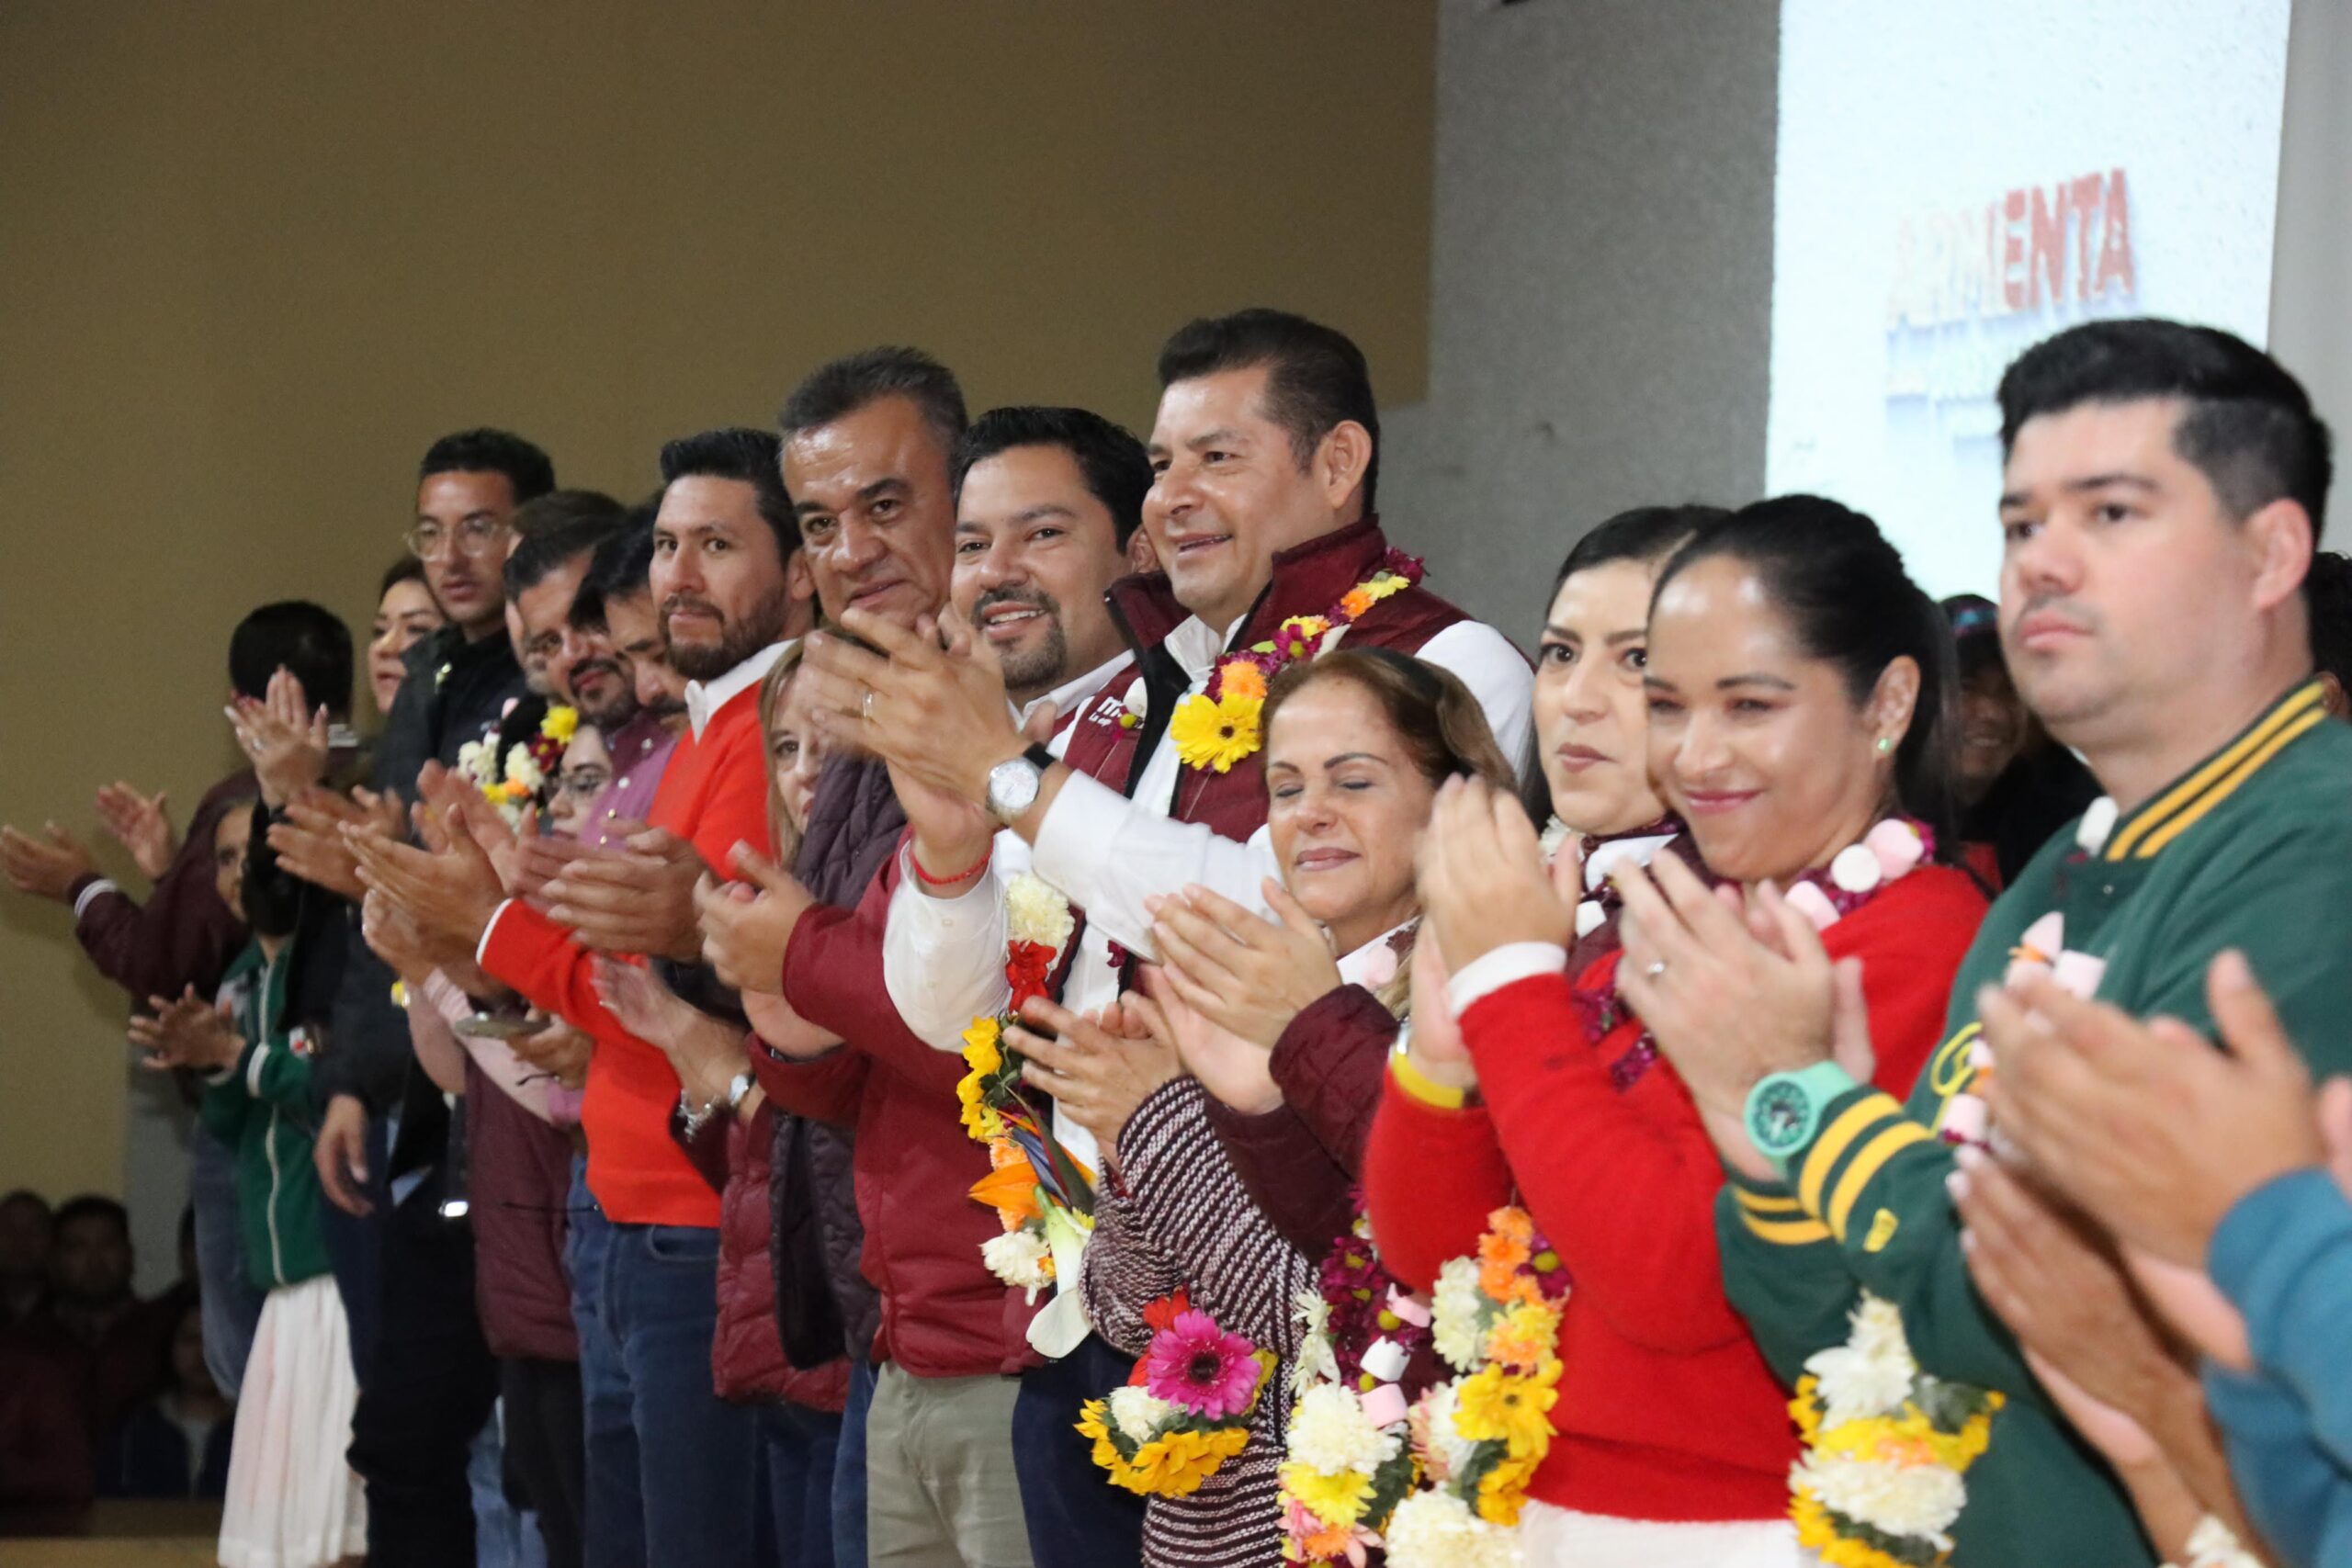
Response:
[{"label": "dark red puffer jacket right of orange-red sweater, partly behind dark puffer", "polygon": [[762,1103],[748,1121],[727,1124],[727,1187],[720,1192],[720,1321],[710,1335],[710,1380],[739,1403],[790,1399],[840,1413],[849,1396],[849,1361],[833,1356],[809,1371],[783,1359],[776,1338],[776,1272],[769,1241],[769,1154],[776,1107]]}]

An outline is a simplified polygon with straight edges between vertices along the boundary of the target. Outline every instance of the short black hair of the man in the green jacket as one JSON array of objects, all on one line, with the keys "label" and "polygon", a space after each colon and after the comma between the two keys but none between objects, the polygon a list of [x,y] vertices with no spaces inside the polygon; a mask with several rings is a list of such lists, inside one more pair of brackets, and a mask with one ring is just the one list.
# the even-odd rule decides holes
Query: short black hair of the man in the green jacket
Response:
[{"label": "short black hair of the man in the green jacket", "polygon": [[2197,468],[2232,517],[2296,501],[2326,527],[2326,421],[2284,364],[2220,327],[2157,317],[2084,322],[2027,348],[2002,374],[2002,454],[2025,421],[2091,402],[2178,397],[2173,451]]}]

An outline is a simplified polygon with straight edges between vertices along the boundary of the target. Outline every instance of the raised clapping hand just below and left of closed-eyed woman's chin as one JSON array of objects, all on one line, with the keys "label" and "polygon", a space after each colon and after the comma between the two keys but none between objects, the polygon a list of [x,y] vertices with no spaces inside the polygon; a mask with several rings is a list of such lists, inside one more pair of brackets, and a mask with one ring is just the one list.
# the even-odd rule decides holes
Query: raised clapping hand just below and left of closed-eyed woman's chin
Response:
[{"label": "raised clapping hand just below and left of closed-eyed woman's chin", "polygon": [[1282,924],[1202,886],[1145,903],[1169,990],[1204,1020],[1272,1051],[1291,1018],[1341,978],[1315,917],[1272,877],[1263,893]]}]

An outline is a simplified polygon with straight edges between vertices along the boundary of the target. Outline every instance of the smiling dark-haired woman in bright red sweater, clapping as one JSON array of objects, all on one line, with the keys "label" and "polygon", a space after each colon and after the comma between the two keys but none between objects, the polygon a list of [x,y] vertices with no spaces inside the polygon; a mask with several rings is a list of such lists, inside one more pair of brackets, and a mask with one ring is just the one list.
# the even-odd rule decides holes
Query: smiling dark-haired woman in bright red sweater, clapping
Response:
[{"label": "smiling dark-haired woman in bright red sweater, clapping", "polygon": [[[1877,1077],[1907,1086],[1983,912],[1971,877],[1931,863],[1952,825],[1936,604],[1867,517],[1797,496],[1684,543],[1646,632],[1649,773],[1705,872],[1661,856],[1611,879],[1715,907],[1790,889],[1830,954],[1865,964]],[[1684,1025],[1675,973],[1623,922],[1621,950],[1571,971],[1581,905],[1602,900],[1548,877],[1526,813],[1475,785],[1437,804],[1421,896],[1449,1006],[1423,1009],[1390,1074],[1367,1197],[1409,1284],[1515,1197],[1573,1281],[1526,1561],[1797,1563],[1788,1396],[1724,1298],[1722,1164],[1651,1016]]]}]

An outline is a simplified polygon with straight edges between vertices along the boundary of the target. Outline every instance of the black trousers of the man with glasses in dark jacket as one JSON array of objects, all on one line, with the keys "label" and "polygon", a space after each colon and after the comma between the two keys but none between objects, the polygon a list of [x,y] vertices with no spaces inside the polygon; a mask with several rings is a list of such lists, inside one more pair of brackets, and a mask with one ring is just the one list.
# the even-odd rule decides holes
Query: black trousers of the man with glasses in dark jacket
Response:
[{"label": "black trousers of the man with glasses in dark jacket", "polygon": [[374,1354],[350,1418],[367,1486],[369,1568],[473,1561],[473,1439],[499,1399],[499,1363],[473,1305],[473,1232],[416,1192],[383,1225]]}]

